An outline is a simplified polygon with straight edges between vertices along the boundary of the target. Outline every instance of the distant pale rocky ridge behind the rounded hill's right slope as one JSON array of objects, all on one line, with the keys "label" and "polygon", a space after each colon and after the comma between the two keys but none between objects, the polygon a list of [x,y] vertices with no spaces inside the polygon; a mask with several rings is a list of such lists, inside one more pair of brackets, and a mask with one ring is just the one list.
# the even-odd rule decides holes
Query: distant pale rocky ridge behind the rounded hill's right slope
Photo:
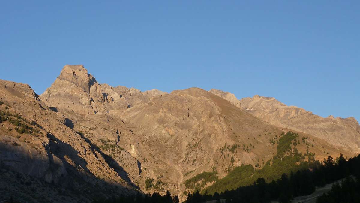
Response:
[{"label": "distant pale rocky ridge behind the rounded hill's right slope", "polygon": [[246,97],[235,101],[228,92],[212,89],[210,92],[230,100],[235,106],[278,127],[305,132],[340,147],[360,152],[360,125],[355,118],[323,118],[310,111],[287,106],[273,97]]}]

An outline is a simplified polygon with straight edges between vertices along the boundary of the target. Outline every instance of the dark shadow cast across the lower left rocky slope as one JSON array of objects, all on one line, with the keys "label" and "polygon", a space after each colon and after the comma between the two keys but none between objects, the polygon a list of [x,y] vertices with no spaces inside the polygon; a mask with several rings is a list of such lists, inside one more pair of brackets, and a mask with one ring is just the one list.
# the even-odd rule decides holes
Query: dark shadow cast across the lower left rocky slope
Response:
[{"label": "dark shadow cast across the lower left rocky slope", "polygon": [[[31,144],[25,144],[20,140],[14,141],[14,138],[11,141],[0,142],[0,168],[11,173],[28,175],[35,178],[34,180],[42,182],[42,185],[45,185],[44,187],[39,186],[36,182],[32,182],[32,185],[29,183],[31,187],[36,187],[37,191],[46,190],[47,187],[55,187],[57,188],[55,191],[59,191],[61,194],[65,193],[66,196],[70,197],[79,197],[80,195],[92,200],[98,197],[119,195],[122,191],[129,191],[127,187],[119,183],[107,182],[96,177],[87,167],[86,160],[71,145],[64,143],[51,133],[48,133],[46,137],[49,138],[49,144],[43,146],[47,157],[44,155],[37,156],[36,151],[33,150],[30,152]],[[116,162],[113,159],[105,156],[98,149],[93,148],[93,150],[97,150],[102,154],[110,166],[116,167],[114,164]],[[41,150],[39,153],[41,153]],[[47,158],[48,160],[46,160]],[[118,170],[123,171],[120,166]],[[6,173],[0,173],[1,180],[3,180],[3,175],[6,175]],[[129,185],[139,189],[139,187],[131,183],[125,171],[119,176],[130,182]],[[13,182],[13,186],[19,191],[23,187],[23,185],[19,184],[21,181],[14,180]]]}]

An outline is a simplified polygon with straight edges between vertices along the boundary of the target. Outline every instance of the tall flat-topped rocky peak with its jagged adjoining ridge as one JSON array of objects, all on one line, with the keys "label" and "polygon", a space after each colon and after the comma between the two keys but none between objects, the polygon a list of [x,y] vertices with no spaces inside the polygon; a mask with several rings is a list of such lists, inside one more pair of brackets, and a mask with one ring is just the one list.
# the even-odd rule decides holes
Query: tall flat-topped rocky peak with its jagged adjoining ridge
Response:
[{"label": "tall flat-topped rocky peak with its jagged adjoining ridge", "polygon": [[166,94],[157,89],[141,92],[135,88],[98,84],[82,65],[66,65],[55,82],[41,94],[47,106],[72,110],[82,115],[123,111],[149,98]]}]

